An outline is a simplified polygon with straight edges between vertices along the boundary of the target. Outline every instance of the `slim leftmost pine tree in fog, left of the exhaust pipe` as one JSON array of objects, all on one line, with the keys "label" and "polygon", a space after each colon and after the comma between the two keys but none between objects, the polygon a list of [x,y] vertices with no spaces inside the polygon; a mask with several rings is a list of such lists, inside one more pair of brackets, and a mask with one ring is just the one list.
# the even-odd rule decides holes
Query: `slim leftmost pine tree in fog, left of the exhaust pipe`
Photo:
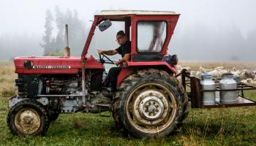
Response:
[{"label": "slim leftmost pine tree in fog, left of the exhaust pipe", "polygon": [[40,45],[44,48],[44,55],[47,55],[53,50],[53,43],[52,40],[52,31],[53,31],[53,15],[51,14],[50,10],[47,9],[46,17],[45,17],[45,35],[42,37],[43,43]]}]

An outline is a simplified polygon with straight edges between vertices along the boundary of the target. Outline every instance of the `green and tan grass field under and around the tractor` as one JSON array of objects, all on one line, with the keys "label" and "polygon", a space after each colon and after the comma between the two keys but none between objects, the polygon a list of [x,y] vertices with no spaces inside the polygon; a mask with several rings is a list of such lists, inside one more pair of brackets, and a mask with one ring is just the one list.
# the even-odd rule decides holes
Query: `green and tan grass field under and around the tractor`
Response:
[{"label": "green and tan grass field under and around the tractor", "polygon": [[[195,69],[201,66],[183,64]],[[230,68],[234,65],[227,64]],[[256,106],[190,109],[184,126],[170,137],[157,139],[123,137],[116,131],[113,118],[81,112],[60,115],[45,137],[13,136],[6,118],[8,97],[17,92],[13,82],[16,76],[12,63],[0,62],[0,145],[256,145]],[[246,96],[256,100],[256,91]]]}]

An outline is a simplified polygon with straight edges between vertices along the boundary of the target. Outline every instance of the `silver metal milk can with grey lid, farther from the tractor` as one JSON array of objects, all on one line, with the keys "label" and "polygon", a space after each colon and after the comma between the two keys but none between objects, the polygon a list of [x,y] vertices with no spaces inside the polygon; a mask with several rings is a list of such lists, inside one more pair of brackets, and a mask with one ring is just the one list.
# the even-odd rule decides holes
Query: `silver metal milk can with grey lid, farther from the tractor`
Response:
[{"label": "silver metal milk can with grey lid, farther from the tractor", "polygon": [[[237,82],[234,80],[233,74],[222,74],[222,80],[219,81],[219,88],[221,90],[225,89],[236,89]],[[219,101],[222,104],[231,104],[237,100],[237,91],[220,91]]]}]

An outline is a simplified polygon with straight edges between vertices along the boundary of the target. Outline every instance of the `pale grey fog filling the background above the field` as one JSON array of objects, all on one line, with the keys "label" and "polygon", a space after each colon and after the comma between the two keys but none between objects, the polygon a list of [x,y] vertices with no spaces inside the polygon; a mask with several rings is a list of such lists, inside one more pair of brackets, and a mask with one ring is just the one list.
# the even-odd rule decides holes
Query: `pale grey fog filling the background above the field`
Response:
[{"label": "pale grey fog filling the background above the field", "polygon": [[[12,60],[18,55],[44,55],[42,38],[45,36],[46,12],[49,9],[56,19],[56,7],[59,7],[61,12],[74,17],[77,12],[84,27],[80,28],[83,33],[77,30],[69,37],[71,55],[80,56],[94,14],[102,9],[138,9],[181,14],[169,45],[169,53],[177,54],[180,61],[256,61],[256,1],[253,0],[0,2],[0,60]],[[72,23],[69,25],[69,29],[77,28]],[[55,37],[55,44],[61,43],[57,50],[64,50],[64,42],[56,40],[57,28],[53,22],[52,37]],[[96,49],[118,47],[115,37],[120,29],[123,27],[113,23],[104,33],[97,31],[89,53],[95,55]]]}]

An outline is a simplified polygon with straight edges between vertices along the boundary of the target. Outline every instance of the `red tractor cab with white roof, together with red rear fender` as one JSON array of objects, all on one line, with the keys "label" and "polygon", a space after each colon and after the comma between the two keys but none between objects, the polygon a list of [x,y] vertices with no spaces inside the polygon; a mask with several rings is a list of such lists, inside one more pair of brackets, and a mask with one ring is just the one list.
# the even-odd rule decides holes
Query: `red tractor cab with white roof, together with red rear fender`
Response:
[{"label": "red tractor cab with white roof, together with red rear fender", "polygon": [[[176,70],[173,69],[173,66],[163,61],[163,57],[167,53],[167,46],[173,35],[178,17],[179,14],[176,12],[103,10],[94,15],[94,21],[81,54],[82,62],[83,60],[86,62],[88,52],[91,54],[92,50],[95,52],[95,50],[99,49],[91,45],[94,40],[97,43],[97,47],[99,47],[99,45],[103,44],[102,42],[111,42],[116,39],[116,36],[112,35],[110,37],[110,34],[106,33],[106,31],[110,29],[111,34],[116,34],[117,31],[120,31],[120,28],[111,25],[118,23],[123,25],[121,29],[124,30],[131,42],[131,54],[129,61],[121,64],[124,68],[118,74],[117,85],[120,85],[129,74],[139,68],[162,69],[169,74],[174,74]],[[97,34],[101,34],[102,37],[97,37]],[[102,47],[113,48],[113,46],[108,45],[106,47],[103,45]],[[102,65],[106,63],[114,64],[115,62],[106,55],[99,55],[98,61]],[[102,66],[102,68],[105,67]],[[103,72],[103,80],[105,76],[106,74]]]}]

